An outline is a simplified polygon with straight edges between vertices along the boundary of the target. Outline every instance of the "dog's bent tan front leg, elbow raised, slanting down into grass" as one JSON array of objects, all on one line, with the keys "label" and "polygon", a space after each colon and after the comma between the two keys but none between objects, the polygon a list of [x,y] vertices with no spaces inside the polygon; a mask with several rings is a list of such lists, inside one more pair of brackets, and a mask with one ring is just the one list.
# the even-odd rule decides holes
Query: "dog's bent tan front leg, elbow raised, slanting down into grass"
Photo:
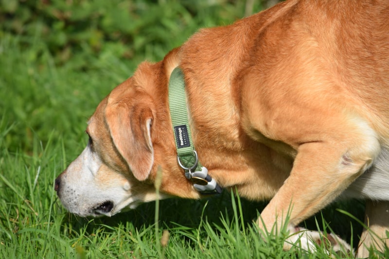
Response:
[{"label": "dog's bent tan front leg, elbow raised, slanting down into grass", "polygon": [[[270,232],[274,224],[280,228],[288,217],[289,231],[298,232],[297,224],[332,202],[380,152],[374,134],[361,136],[357,140],[359,143],[355,142],[354,138],[349,143],[318,141],[301,144],[290,176],[261,213],[260,227]],[[304,239],[301,239],[301,245],[306,242],[305,248],[314,249],[309,247],[309,235]]]}]

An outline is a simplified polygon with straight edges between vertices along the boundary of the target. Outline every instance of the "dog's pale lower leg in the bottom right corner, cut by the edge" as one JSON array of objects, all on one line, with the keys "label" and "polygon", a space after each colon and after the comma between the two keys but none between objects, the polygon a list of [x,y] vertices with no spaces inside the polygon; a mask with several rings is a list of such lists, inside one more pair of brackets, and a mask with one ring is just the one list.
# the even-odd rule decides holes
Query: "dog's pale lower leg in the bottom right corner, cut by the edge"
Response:
[{"label": "dog's pale lower leg in the bottom right corner, cut by the edge", "polygon": [[358,258],[368,258],[371,247],[381,252],[385,251],[385,245],[389,247],[389,201],[367,201],[365,225],[368,229],[362,232]]}]

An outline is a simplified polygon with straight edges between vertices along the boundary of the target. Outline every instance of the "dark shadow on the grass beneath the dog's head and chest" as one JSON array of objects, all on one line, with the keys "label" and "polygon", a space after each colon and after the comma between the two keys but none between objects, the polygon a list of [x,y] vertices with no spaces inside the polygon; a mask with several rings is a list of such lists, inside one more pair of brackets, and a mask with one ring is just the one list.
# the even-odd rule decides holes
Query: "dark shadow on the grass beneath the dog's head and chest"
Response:
[{"label": "dark shadow on the grass beneath the dog's head and chest", "polygon": [[[266,204],[266,202],[252,202],[241,199],[244,224],[247,226],[257,220],[258,211],[262,211]],[[304,227],[311,230],[318,230],[318,227],[320,230],[323,230],[329,225],[336,232],[336,235],[347,242],[352,241],[353,247],[357,247],[362,226],[347,215],[337,211],[337,209],[348,211],[363,221],[364,203],[357,200],[349,200],[333,203],[300,225],[304,225]],[[154,214],[155,202],[150,202],[142,204],[136,209],[119,213],[111,218],[80,218],[68,214],[63,224],[70,226],[76,233],[85,231],[86,235],[92,235],[98,229],[101,230],[102,227],[106,233],[110,233],[116,231],[114,230],[115,227],[120,225],[128,226],[128,224],[131,224],[134,229],[151,229],[151,226],[155,223]],[[202,200],[173,198],[159,201],[159,226],[161,228],[175,228],[177,225],[197,228],[201,224],[201,220],[205,219],[212,225],[220,226],[222,225],[221,215],[225,219],[234,217],[232,201],[228,191]]]}]

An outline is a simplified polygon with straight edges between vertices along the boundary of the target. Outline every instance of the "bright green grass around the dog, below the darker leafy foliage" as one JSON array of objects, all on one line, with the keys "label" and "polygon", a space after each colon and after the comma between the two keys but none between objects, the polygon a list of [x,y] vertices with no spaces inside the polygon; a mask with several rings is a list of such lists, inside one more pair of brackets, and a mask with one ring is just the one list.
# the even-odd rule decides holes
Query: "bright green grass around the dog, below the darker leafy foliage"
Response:
[{"label": "bright green grass around the dog, below the darker leafy foliage", "polygon": [[[225,16],[231,10],[226,8]],[[86,121],[100,100],[129,77],[140,60],[158,60],[198,27],[220,24],[212,15],[204,11],[203,23],[194,19],[186,31],[176,32],[180,37],[166,38],[158,46],[150,43],[131,60],[109,52],[91,54],[84,60],[88,69],[79,68],[77,55],[65,64],[56,63],[40,40],[39,27],[29,38],[1,34],[1,258],[327,257],[320,249],[316,254],[283,251],[282,236],[259,238],[252,221],[265,203],[240,200],[228,192],[201,201],[143,204],[98,219],[69,214],[55,195],[54,179],[84,148]],[[231,13],[230,22],[234,17]],[[363,204],[352,201],[334,204],[305,224],[310,229],[332,228],[342,238],[353,239],[355,247],[361,226],[338,208],[362,219]],[[161,243],[166,233],[169,240]]]}]

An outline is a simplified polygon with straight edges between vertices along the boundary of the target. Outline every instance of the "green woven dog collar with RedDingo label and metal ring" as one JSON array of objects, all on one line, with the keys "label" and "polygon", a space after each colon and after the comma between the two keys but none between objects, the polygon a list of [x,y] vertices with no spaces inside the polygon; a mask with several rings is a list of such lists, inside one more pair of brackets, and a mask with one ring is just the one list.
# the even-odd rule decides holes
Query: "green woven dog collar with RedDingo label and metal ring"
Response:
[{"label": "green woven dog collar with RedDingo label and metal ring", "polygon": [[169,80],[169,108],[173,132],[176,139],[178,164],[184,169],[185,177],[194,183],[195,190],[202,194],[221,193],[221,187],[201,166],[195,151],[185,96],[184,74],[175,68]]}]

